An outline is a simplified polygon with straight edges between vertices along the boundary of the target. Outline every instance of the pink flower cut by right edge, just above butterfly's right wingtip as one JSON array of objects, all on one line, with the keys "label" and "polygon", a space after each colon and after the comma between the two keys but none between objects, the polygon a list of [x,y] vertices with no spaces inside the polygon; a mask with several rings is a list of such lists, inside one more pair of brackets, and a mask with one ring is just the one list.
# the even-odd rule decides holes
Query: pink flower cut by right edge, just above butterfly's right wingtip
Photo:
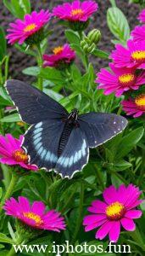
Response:
[{"label": "pink flower cut by right edge, just above butterfly's right wingtip", "polygon": [[145,113],[145,94],[121,103],[126,115],[133,115],[134,118],[137,118]]}]

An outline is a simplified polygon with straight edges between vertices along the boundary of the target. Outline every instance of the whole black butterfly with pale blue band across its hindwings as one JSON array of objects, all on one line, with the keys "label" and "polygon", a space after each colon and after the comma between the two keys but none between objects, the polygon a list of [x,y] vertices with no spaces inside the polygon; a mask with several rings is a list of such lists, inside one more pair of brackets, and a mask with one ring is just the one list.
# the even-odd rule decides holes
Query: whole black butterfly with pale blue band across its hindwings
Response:
[{"label": "whole black butterfly with pale blue band across its hindwings", "polygon": [[86,166],[89,148],[96,148],[125,129],[127,120],[114,113],[71,113],[51,97],[19,80],[8,80],[9,96],[21,119],[31,127],[23,147],[30,163],[61,177],[73,177]]}]

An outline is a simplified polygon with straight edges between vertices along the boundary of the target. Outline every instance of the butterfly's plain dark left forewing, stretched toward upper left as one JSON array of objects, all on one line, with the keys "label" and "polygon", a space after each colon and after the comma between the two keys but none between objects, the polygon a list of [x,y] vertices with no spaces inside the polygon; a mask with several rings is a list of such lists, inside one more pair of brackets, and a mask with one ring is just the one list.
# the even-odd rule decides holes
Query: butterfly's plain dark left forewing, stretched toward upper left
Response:
[{"label": "butterfly's plain dark left forewing, stretched toward upper left", "polygon": [[30,125],[67,115],[63,106],[34,86],[19,80],[8,80],[6,89],[21,118]]}]

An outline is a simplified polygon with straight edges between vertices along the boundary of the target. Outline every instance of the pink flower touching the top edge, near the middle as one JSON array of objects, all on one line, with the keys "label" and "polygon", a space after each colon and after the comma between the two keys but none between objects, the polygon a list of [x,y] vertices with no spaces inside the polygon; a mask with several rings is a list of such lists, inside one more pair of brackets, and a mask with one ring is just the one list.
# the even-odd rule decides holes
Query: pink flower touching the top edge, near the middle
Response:
[{"label": "pink flower touching the top edge, near the middle", "polygon": [[74,1],[73,3],[63,3],[53,9],[53,16],[61,20],[86,22],[90,16],[98,10],[98,3],[95,1]]}]

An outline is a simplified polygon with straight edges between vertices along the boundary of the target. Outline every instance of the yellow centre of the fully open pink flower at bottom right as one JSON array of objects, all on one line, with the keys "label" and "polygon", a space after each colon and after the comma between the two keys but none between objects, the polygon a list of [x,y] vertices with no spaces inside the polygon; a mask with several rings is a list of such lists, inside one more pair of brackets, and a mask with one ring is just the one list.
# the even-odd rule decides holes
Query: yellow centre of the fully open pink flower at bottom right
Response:
[{"label": "yellow centre of the fully open pink flower at bottom right", "polygon": [[125,207],[119,201],[115,201],[106,208],[107,218],[111,220],[118,220],[125,214]]}]

